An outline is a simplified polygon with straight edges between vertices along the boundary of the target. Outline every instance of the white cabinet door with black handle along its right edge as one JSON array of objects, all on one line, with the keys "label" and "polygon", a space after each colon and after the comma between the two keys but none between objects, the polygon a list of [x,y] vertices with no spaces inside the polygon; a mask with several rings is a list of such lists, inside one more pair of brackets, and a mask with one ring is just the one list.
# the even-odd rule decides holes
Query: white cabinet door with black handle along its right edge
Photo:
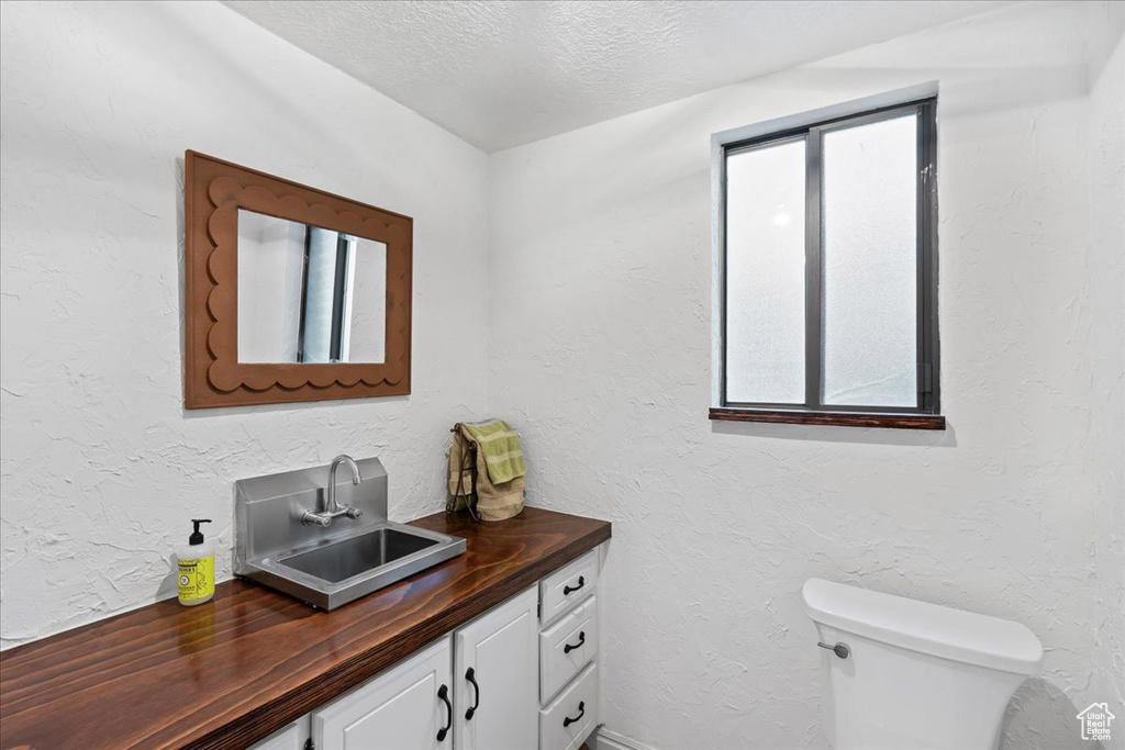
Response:
[{"label": "white cabinet door with black handle along its right edge", "polygon": [[314,711],[317,750],[451,750],[451,658],[447,636]]}]

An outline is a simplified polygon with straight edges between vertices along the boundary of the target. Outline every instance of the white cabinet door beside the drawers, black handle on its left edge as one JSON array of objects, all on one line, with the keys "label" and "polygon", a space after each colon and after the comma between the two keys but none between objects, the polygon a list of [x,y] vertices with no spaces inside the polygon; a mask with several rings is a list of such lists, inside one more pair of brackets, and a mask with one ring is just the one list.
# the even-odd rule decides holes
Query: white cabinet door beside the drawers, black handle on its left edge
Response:
[{"label": "white cabinet door beside the drawers, black handle on its left edge", "polygon": [[539,596],[530,589],[457,631],[457,750],[539,747]]}]

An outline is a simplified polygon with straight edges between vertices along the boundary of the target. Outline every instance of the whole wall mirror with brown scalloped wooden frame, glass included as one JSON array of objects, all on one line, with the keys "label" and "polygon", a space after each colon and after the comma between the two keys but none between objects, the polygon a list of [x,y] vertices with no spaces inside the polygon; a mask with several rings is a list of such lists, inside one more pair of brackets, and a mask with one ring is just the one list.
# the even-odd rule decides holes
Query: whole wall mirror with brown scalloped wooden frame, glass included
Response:
[{"label": "whole wall mirror with brown scalloped wooden frame, glass included", "polygon": [[184,155],[184,406],[411,392],[413,219]]}]

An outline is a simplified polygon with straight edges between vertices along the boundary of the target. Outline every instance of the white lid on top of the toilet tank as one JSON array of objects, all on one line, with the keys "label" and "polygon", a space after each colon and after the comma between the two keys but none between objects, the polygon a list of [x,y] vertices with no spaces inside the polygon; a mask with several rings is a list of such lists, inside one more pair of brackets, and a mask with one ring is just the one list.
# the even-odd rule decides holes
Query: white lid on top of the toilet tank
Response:
[{"label": "white lid on top of the toilet tank", "polygon": [[1043,659],[1040,639],[1008,620],[819,578],[802,594],[813,622],[910,651],[1017,675],[1036,674]]}]

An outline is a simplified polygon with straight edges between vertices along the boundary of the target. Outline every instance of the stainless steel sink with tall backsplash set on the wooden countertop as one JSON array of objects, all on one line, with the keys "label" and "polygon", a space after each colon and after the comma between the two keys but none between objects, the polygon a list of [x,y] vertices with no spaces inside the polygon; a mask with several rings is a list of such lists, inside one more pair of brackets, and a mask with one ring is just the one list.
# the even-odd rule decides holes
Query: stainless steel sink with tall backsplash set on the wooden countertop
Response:
[{"label": "stainless steel sink with tall backsplash set on the wooden countertop", "polygon": [[322,609],[389,586],[465,552],[465,540],[387,521],[387,473],[358,462],[363,481],[336,485],[359,518],[302,522],[321,507],[327,467],[236,482],[235,572]]}]

